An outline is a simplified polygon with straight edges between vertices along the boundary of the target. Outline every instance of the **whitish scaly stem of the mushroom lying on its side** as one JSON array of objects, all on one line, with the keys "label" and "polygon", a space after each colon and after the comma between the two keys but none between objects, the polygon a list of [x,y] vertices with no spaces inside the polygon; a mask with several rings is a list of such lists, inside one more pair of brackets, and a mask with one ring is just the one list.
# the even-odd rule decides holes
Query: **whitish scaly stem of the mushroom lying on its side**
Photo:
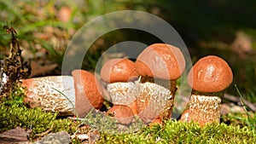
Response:
[{"label": "whitish scaly stem of the mushroom lying on its side", "polygon": [[73,106],[75,106],[73,77],[29,78],[22,79],[21,82],[22,86],[27,88],[26,101],[32,107],[41,107],[44,111],[48,112],[60,112],[61,115],[75,114],[73,109]]}]

